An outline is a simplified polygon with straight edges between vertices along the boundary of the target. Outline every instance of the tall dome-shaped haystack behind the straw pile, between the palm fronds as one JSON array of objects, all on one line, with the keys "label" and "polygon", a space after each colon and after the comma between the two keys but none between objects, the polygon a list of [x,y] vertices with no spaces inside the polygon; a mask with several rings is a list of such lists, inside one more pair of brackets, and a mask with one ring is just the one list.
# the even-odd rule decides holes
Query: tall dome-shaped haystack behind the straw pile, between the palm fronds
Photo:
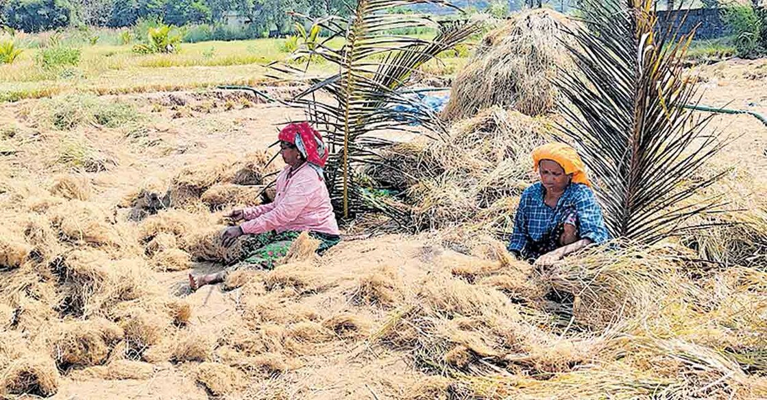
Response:
[{"label": "tall dome-shaped haystack behind the straw pile, between the palm fronds", "polygon": [[443,111],[448,121],[472,117],[492,105],[528,115],[555,107],[557,68],[568,61],[564,15],[542,8],[515,15],[482,39],[476,55],[453,81]]}]

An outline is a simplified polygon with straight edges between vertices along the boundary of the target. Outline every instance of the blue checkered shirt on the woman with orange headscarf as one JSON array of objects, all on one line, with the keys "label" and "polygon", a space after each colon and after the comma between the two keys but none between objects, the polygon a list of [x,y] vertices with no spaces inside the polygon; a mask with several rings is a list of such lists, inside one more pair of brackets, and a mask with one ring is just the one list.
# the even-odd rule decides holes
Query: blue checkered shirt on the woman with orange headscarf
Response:
[{"label": "blue checkered shirt on the woman with orange headscarf", "polygon": [[604,225],[602,209],[591,188],[581,183],[571,183],[559,198],[557,207],[544,203],[543,185],[538,182],[522,192],[514,222],[509,251],[525,254],[528,243],[545,240],[555,227],[563,222],[568,210],[578,213],[578,236],[602,243],[610,239]]}]

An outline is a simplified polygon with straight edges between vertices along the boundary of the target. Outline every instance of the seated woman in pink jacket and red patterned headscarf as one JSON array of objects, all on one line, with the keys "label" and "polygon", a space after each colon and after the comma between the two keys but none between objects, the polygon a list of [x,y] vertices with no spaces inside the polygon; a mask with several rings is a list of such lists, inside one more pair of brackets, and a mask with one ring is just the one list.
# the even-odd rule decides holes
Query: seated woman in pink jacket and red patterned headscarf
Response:
[{"label": "seated woman in pink jacket and red patterned headscarf", "polygon": [[[338,224],[333,213],[328,188],[324,183],[324,165],[328,149],[322,136],[309,124],[289,124],[280,131],[280,154],[285,169],[277,177],[277,196],[272,203],[258,207],[234,210],[227,217],[245,220],[239,226],[222,233],[223,245],[232,246],[240,236],[241,263],[271,269],[275,260],[285,256],[291,243],[301,232],[321,240],[318,253],[323,253],[341,241]],[[189,274],[189,286],[220,283],[227,271],[210,275]]]}]

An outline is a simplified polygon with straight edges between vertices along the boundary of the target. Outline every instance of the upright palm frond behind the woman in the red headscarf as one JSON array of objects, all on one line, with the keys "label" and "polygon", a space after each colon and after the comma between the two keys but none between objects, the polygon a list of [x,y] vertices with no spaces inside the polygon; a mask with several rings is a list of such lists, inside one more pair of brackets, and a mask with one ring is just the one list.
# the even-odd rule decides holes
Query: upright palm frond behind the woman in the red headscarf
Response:
[{"label": "upright palm frond behind the woman in the red headscarf", "polygon": [[[479,25],[469,21],[439,22],[426,15],[387,13],[390,8],[424,2],[454,8],[442,0],[359,0],[348,19],[331,17],[316,22],[328,38],[293,55],[293,61],[307,60],[303,69],[289,64],[272,66],[275,71],[310,84],[289,103],[304,108],[308,120],[330,145],[326,177],[334,205],[343,211],[344,218],[360,210],[360,204],[351,203],[371,204],[365,200],[354,170],[380,158],[374,149],[386,142],[372,140],[375,132],[415,132],[409,126],[412,121],[418,121],[437,137],[445,131],[435,114],[420,107],[400,89],[421,65],[476,33]],[[438,33],[430,40],[389,33],[416,27],[436,28]],[[344,38],[344,45],[333,48],[329,44],[333,38]],[[308,62],[317,58],[336,65],[337,74],[308,76]],[[319,91],[329,94],[332,101],[319,101]]]}]

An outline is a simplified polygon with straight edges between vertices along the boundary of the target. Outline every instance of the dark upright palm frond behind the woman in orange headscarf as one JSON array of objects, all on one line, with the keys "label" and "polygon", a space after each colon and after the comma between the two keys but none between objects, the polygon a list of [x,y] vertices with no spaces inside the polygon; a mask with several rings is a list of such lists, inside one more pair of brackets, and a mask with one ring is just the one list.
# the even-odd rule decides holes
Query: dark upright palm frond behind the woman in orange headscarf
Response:
[{"label": "dark upright palm frond behind the woman in orange headscarf", "polygon": [[658,29],[652,0],[584,0],[588,28],[571,31],[577,68],[562,71],[568,101],[561,132],[597,178],[597,197],[614,236],[653,242],[716,202],[691,197],[720,176],[696,170],[726,145],[710,117],[684,108],[696,88],[683,77],[694,32]]}]

